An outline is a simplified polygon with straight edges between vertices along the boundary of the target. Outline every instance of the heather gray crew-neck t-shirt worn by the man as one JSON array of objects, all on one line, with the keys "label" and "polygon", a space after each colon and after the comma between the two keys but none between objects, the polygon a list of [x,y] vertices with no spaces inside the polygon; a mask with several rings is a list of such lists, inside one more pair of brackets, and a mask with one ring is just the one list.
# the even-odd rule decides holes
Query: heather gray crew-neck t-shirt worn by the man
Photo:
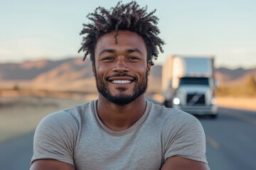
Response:
[{"label": "heather gray crew-neck t-shirt worn by the man", "polygon": [[96,102],[43,118],[36,128],[31,162],[56,159],[80,170],[156,170],[177,155],[207,164],[205,134],[193,115],[147,101],[137,123],[114,132],[98,118]]}]

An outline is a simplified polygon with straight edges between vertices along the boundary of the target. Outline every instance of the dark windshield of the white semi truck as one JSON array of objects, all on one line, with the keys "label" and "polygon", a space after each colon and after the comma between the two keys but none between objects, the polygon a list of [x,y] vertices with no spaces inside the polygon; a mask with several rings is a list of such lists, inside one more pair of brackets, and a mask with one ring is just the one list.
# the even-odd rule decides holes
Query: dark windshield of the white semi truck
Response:
[{"label": "dark windshield of the white semi truck", "polygon": [[179,79],[179,85],[206,85],[209,86],[209,80],[207,77],[183,77]]}]

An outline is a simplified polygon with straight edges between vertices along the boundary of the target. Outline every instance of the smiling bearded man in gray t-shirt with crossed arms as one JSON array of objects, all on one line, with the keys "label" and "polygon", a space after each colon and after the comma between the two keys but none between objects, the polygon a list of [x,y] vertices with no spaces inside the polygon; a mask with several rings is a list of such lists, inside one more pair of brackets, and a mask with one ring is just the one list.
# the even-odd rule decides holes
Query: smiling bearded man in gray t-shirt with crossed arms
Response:
[{"label": "smiling bearded man in gray t-shirt with crossed arms", "polygon": [[79,51],[90,55],[98,99],[41,121],[31,170],[208,169],[201,123],[145,99],[164,45],[153,13],[132,1],[87,16]]}]

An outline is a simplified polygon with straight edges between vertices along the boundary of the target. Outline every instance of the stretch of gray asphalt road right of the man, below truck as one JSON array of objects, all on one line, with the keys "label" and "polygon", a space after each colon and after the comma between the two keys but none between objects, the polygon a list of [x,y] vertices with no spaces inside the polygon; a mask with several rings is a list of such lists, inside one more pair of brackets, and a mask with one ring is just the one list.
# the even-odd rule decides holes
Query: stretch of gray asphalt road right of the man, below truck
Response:
[{"label": "stretch of gray asphalt road right of the man, below truck", "polygon": [[256,169],[256,112],[220,108],[217,120],[199,118],[211,170]]}]

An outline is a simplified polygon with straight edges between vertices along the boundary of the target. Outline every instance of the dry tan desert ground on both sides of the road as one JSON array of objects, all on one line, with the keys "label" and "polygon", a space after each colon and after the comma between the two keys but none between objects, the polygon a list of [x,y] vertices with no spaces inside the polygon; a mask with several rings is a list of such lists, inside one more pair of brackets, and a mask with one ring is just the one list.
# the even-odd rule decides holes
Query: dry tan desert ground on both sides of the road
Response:
[{"label": "dry tan desert ground on both sides of the road", "polygon": [[[158,96],[159,97],[159,96]],[[97,98],[0,97],[0,142],[33,132],[39,121],[55,111]],[[157,99],[157,96],[156,96]],[[256,98],[217,98],[218,106],[256,111]]]}]

